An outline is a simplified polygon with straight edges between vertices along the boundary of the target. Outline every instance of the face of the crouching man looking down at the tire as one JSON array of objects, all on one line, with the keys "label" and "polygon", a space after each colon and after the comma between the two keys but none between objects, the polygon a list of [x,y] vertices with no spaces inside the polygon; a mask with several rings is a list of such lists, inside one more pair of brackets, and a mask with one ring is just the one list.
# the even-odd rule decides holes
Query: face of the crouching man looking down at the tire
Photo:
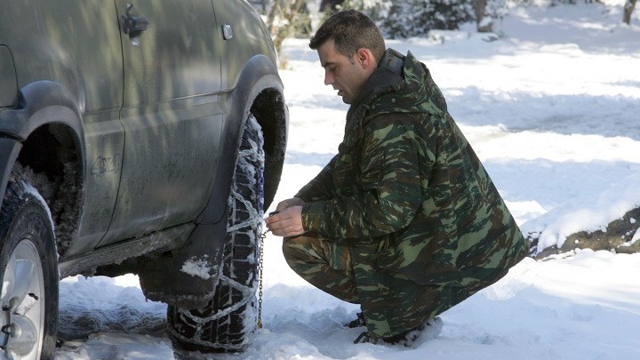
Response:
[{"label": "face of the crouching man looking down at the tire", "polygon": [[351,104],[371,75],[371,64],[364,63],[357,52],[351,58],[340,54],[335,49],[333,39],[320,45],[317,52],[320,65],[324,68],[324,84],[332,85],[342,97],[342,101]]}]

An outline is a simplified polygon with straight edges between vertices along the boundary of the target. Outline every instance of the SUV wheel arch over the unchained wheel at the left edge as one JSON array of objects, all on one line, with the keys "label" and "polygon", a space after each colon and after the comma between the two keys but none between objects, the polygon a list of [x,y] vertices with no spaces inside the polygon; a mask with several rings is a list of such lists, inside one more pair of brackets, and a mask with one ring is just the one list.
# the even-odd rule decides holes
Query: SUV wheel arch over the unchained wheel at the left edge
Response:
[{"label": "SUV wheel arch over the unchained wheel at the left edge", "polygon": [[30,178],[52,211],[63,253],[76,235],[84,200],[84,132],[76,101],[59,83],[27,84],[18,105],[0,111],[0,124],[0,193],[12,171]]}]

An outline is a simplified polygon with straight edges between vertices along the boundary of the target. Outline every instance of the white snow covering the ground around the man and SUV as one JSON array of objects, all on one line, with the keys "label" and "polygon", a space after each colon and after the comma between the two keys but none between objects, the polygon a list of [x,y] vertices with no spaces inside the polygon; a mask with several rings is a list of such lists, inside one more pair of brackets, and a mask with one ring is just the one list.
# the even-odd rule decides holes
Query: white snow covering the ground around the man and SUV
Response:
[{"label": "white snow covering the ground around the man and SUV", "polygon": [[[389,41],[430,68],[452,116],[525,233],[564,244],[640,204],[640,16],[623,1],[514,7],[500,38],[438,31]],[[276,202],[313,178],[340,143],[347,106],[323,84],[306,40],[284,44],[291,112]],[[270,209],[273,210],[273,209]],[[633,221],[632,221],[633,222]],[[636,232],[632,242],[640,239]],[[242,354],[194,359],[638,359],[640,253],[575,250],[525,259],[497,284],[444,312],[436,339],[414,348],[353,344],[342,324],[358,308],[305,283],[281,240],[265,240],[264,328]],[[173,359],[165,306],[136,276],[70,277],[60,284],[58,359]]]}]

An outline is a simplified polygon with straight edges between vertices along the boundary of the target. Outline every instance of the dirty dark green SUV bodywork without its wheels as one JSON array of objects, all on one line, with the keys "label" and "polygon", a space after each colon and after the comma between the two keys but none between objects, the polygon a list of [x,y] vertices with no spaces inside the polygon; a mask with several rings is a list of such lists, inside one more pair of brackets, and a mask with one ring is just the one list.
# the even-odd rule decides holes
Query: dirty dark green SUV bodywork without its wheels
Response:
[{"label": "dirty dark green SUV bodywork without its wheels", "polygon": [[249,117],[264,140],[260,217],[284,161],[288,112],[260,16],[244,0],[0,4],[5,202],[16,179],[44,198],[61,277],[133,272],[149,299],[206,306]]}]

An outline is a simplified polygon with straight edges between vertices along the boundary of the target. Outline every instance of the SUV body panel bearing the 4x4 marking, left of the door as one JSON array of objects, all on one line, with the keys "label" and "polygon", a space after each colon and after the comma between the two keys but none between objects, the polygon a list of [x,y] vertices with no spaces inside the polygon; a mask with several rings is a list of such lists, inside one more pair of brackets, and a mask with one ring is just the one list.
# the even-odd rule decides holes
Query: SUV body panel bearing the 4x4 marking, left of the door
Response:
[{"label": "SUV body panel bearing the 4x4 marking, left of the door", "polygon": [[[124,149],[124,128],[119,119],[123,63],[116,4],[38,0],[6,6],[2,12],[8,12],[3,15],[11,19],[12,24],[6,25],[12,27],[12,33],[25,35],[16,39],[14,46],[20,82],[50,80],[61,84],[82,116],[83,133],[78,134],[84,136],[85,163],[84,212],[78,230],[81,241],[65,245],[71,246],[68,253],[90,250],[108,230]],[[40,27],[37,32],[33,31],[36,25]],[[38,36],[27,36],[34,33]],[[66,161],[73,155],[60,152],[57,156]]]}]

